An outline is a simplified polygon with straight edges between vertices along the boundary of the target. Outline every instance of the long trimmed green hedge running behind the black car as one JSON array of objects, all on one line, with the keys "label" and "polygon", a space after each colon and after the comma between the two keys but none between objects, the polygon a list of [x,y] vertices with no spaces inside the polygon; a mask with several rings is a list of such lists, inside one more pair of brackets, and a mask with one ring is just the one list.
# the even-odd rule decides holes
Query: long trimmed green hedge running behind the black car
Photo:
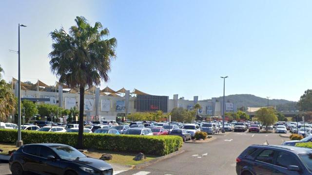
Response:
[{"label": "long trimmed green hedge running behind the black car", "polygon": [[[0,142],[15,143],[18,131],[0,129]],[[61,143],[77,146],[78,133],[53,133],[40,131],[21,131],[24,144]],[[137,136],[113,134],[83,133],[85,149],[99,149],[120,152],[142,152],[144,154],[164,156],[177,151],[183,144],[179,136]]]}]

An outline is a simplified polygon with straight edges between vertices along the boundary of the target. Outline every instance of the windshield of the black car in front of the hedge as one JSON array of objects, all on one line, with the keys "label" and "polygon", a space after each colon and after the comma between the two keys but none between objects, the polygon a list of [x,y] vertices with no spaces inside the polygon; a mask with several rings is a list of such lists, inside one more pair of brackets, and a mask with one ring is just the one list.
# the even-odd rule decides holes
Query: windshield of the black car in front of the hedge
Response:
[{"label": "windshield of the black car in front of the hedge", "polygon": [[62,158],[62,159],[72,159],[77,157],[86,157],[84,154],[82,154],[77,149],[71,147],[71,146],[61,146],[61,147],[51,147],[56,154]]}]

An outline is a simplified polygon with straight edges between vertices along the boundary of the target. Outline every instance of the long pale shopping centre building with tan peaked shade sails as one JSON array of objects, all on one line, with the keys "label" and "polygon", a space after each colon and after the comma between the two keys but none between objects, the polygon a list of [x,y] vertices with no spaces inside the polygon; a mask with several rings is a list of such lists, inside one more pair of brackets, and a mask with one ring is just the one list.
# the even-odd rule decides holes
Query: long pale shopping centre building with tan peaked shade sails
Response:
[{"label": "long pale shopping centre building with tan peaked shade sails", "polygon": [[[17,85],[12,83],[12,86],[14,88],[13,92],[17,94]],[[51,86],[47,86],[39,80],[33,85],[37,90],[36,88],[34,89],[27,86],[28,85],[21,83],[22,100],[59,105],[64,109],[70,109],[76,106],[79,109],[80,97],[78,90],[69,89],[58,83],[53,89]],[[168,113],[171,112],[174,107],[193,110],[196,103],[202,106],[202,109],[198,110],[199,118],[203,120],[207,118],[210,119],[210,117],[221,118],[223,114],[223,104],[222,102],[218,102],[215,98],[212,100],[198,101],[198,96],[194,96],[193,100],[184,100],[175,94],[173,95],[173,99],[170,99],[168,96],[149,95],[137,89],[134,89],[132,92],[124,88],[114,91],[108,87],[102,90],[96,87],[86,89],[84,95],[84,116],[85,120],[88,121],[101,119],[116,120],[117,117],[125,117],[126,114],[135,112],[162,110],[164,113]],[[235,111],[235,106],[232,103],[226,103],[226,111]]]}]

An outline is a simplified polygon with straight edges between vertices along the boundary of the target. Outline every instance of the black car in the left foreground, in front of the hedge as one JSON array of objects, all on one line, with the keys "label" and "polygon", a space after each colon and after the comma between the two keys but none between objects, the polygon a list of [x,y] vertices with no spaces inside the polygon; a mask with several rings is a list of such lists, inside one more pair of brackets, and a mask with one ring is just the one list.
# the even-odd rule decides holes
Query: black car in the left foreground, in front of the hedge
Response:
[{"label": "black car in the left foreground, in front of the hedge", "polygon": [[9,167],[12,175],[113,175],[113,168],[105,161],[58,143],[23,145],[11,156]]}]

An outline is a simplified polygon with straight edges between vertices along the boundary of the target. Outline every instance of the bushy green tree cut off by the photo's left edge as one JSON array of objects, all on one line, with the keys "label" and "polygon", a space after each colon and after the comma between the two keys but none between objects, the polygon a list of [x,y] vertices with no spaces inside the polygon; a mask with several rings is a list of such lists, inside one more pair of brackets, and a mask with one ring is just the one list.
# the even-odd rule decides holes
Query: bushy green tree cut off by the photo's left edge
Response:
[{"label": "bushy green tree cut off by the photo's left edge", "polygon": [[[0,67],[0,73],[1,71],[3,70]],[[7,116],[16,111],[16,102],[12,87],[4,80],[0,80],[0,121],[7,121]]]}]

